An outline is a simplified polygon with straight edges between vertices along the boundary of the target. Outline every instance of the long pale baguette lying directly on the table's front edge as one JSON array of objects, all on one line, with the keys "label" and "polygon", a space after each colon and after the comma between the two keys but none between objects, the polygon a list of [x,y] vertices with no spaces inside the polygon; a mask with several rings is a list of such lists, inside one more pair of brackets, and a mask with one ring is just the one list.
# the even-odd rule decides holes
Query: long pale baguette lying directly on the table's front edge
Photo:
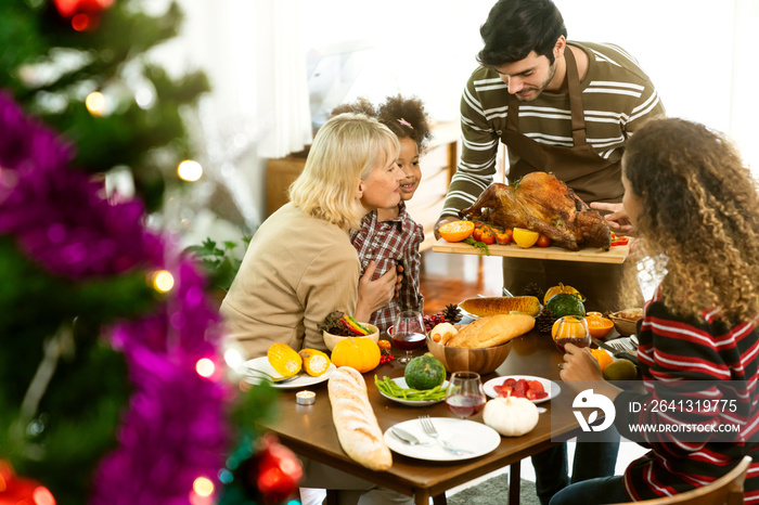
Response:
[{"label": "long pale baguette lying directly on the table's front edge", "polygon": [[332,373],[327,390],[343,450],[366,468],[387,470],[393,466],[393,455],[369,403],[363,376],[355,368],[340,366]]}]

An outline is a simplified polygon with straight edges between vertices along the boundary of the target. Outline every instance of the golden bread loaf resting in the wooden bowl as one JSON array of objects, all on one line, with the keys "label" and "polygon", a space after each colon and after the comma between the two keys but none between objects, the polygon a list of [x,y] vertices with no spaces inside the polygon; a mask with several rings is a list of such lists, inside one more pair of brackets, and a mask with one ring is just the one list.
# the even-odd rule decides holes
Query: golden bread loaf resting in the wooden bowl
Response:
[{"label": "golden bread loaf resting in the wooden bowl", "polygon": [[500,314],[480,318],[467,324],[448,340],[448,347],[484,348],[507,342],[535,327],[535,318],[526,314]]}]

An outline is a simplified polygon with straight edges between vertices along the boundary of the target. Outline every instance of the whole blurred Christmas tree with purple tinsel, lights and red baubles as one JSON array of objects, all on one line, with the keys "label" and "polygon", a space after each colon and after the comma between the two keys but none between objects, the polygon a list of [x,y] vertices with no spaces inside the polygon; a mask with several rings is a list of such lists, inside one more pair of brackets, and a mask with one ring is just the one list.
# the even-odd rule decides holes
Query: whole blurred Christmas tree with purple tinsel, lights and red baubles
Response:
[{"label": "whole blurred Christmas tree with purple tinsel, lights and red baubles", "polygon": [[[278,503],[296,485],[261,480],[293,456],[256,431],[272,390],[224,380],[205,272],[145,225],[207,82],[147,62],[181,15],[140,5],[0,3],[0,503]],[[138,197],[106,194],[121,166]]]}]

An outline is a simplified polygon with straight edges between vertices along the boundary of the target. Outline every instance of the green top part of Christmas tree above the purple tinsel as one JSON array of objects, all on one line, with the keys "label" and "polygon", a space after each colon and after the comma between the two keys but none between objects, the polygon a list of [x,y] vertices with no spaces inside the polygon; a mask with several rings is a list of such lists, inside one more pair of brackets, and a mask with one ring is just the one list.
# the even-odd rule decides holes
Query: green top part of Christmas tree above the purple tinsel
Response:
[{"label": "green top part of Christmas tree above the purple tinsel", "polygon": [[202,72],[172,78],[151,50],[181,27],[138,0],[2,0],[0,89],[77,145],[90,173],[128,167],[149,209],[192,157],[182,112],[208,91]]}]

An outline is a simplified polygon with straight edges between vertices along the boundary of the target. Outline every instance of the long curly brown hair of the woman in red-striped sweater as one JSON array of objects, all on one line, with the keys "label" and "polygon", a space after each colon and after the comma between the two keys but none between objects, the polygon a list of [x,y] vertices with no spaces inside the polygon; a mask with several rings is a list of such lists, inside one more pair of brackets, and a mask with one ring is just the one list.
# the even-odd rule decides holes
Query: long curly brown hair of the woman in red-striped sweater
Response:
[{"label": "long curly brown hair of the woman in red-striped sweater", "polygon": [[732,324],[756,318],[758,187],[728,139],[684,119],[653,120],[628,142],[622,172],[642,203],[636,256],[666,272],[665,306],[697,321],[712,308]]}]

